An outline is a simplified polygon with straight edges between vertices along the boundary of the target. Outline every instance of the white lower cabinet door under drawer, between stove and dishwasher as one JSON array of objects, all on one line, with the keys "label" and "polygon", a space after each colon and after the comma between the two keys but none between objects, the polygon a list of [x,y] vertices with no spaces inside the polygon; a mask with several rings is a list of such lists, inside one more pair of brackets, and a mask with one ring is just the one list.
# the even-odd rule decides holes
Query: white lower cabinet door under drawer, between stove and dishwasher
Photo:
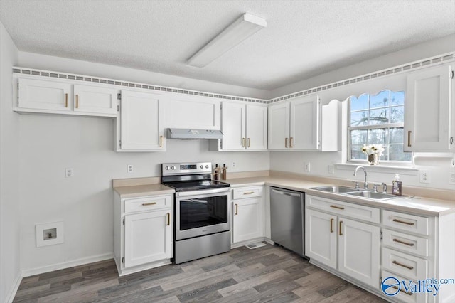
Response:
[{"label": "white lower cabinet door under drawer, between stove and dishwasher", "polygon": [[232,242],[264,237],[262,198],[232,201]]}]

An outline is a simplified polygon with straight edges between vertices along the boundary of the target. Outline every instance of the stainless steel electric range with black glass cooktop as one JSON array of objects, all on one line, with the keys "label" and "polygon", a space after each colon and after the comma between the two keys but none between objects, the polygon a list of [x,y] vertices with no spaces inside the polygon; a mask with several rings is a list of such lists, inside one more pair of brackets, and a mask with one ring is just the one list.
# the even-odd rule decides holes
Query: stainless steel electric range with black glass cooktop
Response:
[{"label": "stainless steel electric range with black glass cooktop", "polygon": [[162,164],[161,184],[176,190],[176,264],[230,250],[230,185],[211,173],[208,162]]}]

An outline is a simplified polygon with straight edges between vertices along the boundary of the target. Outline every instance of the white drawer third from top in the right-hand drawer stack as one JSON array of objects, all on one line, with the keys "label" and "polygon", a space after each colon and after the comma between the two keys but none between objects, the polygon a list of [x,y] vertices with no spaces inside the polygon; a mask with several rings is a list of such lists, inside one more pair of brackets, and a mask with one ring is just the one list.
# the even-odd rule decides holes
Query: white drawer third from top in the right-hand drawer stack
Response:
[{"label": "white drawer third from top in the right-hand drawer stack", "polygon": [[382,248],[382,267],[412,280],[425,280],[428,261],[390,248]]}]

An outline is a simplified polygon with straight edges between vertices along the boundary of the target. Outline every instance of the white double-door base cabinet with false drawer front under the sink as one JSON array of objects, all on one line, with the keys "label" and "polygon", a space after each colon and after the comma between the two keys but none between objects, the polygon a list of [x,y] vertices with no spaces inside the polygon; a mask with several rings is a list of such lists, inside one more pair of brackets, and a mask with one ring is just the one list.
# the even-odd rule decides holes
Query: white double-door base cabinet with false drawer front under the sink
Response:
[{"label": "white double-door base cabinet with false drawer front under the sink", "polygon": [[380,227],[353,219],[380,223],[379,214],[378,208],[307,195],[306,256],[379,289]]}]

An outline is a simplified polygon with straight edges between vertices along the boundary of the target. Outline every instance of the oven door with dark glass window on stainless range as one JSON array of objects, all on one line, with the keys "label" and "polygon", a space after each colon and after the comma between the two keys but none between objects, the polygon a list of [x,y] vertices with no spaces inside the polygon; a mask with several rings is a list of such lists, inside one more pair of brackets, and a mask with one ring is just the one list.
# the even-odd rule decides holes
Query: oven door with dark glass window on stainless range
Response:
[{"label": "oven door with dark glass window on stainless range", "polygon": [[176,196],[176,240],[230,230],[229,188]]}]

